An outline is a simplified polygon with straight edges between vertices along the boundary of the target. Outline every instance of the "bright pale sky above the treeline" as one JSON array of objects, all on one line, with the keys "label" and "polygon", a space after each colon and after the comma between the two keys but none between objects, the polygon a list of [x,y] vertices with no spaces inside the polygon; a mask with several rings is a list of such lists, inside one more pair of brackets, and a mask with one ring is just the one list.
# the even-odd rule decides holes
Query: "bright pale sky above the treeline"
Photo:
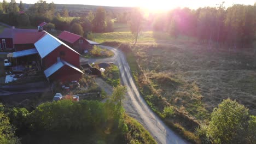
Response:
[{"label": "bright pale sky above the treeline", "polygon": [[[10,0],[9,0],[10,1]],[[22,0],[23,3],[35,3],[38,0]],[[54,2],[56,4],[85,4],[85,5],[104,5],[114,7],[142,7],[155,10],[167,10],[176,7],[189,7],[191,9],[197,9],[199,7],[215,7],[216,4],[225,1],[225,7],[229,7],[232,4],[251,4],[253,5],[256,0],[46,0],[46,2]],[[16,0],[19,3],[19,0]]]}]

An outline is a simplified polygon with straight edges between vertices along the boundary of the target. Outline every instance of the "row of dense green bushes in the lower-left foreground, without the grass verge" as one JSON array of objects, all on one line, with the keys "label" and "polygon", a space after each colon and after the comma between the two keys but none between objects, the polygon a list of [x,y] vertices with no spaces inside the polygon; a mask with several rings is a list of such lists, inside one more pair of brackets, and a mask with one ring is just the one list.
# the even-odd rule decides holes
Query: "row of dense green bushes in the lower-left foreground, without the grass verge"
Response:
[{"label": "row of dense green bushes in the lower-left foreground, without the grass verge", "polygon": [[126,87],[114,88],[113,96],[106,103],[100,101],[60,100],[43,103],[32,112],[25,108],[4,108],[0,104],[0,143],[20,143],[15,135],[33,131],[93,130],[109,128],[127,133],[122,100]]}]

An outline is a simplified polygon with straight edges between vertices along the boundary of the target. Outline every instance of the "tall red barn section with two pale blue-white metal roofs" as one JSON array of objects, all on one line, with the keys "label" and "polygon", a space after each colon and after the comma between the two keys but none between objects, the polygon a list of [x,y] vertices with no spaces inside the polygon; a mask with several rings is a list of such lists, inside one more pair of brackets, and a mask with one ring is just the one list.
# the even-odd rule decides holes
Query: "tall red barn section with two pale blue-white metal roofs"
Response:
[{"label": "tall red barn section with two pale blue-white metal roofs", "polygon": [[50,81],[80,79],[83,74],[79,69],[80,54],[53,35],[45,33],[34,45],[40,55],[46,78]]}]

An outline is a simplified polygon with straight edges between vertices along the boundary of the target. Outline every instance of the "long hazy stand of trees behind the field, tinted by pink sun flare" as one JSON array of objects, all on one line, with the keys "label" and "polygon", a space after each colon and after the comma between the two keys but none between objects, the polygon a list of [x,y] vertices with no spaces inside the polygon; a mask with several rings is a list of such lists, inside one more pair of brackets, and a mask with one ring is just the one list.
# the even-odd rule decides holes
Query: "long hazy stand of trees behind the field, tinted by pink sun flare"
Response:
[{"label": "long hazy stand of trees behind the field, tinted by pink sun flare", "polygon": [[149,22],[154,23],[155,30],[168,32],[174,37],[197,37],[208,43],[208,49],[213,41],[228,44],[232,49],[244,48],[255,40],[256,3],[235,4],[229,8],[224,7],[224,2],[214,8],[177,8],[165,14],[151,15]]}]

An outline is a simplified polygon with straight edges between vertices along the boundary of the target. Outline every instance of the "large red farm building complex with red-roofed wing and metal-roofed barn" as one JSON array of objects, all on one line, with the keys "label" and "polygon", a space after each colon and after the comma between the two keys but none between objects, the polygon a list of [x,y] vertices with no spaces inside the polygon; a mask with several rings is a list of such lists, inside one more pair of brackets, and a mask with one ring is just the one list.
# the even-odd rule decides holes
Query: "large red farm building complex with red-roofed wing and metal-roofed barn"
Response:
[{"label": "large red farm building complex with red-roofed wing and metal-roofed barn", "polygon": [[7,38],[9,48],[14,49],[13,70],[22,71],[24,65],[33,62],[43,70],[48,81],[74,81],[82,77],[80,54],[53,35],[37,29],[4,29],[0,39]]}]

